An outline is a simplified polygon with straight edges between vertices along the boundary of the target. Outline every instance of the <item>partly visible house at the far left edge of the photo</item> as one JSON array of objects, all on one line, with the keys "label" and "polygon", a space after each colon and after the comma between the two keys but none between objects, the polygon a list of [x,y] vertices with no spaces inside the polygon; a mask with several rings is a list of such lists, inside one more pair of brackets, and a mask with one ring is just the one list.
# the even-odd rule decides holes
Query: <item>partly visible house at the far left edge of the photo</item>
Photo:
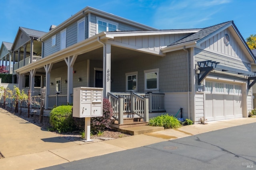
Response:
[{"label": "partly visible house at the far left edge of the photo", "polygon": [[6,66],[8,73],[12,74],[12,53],[11,53],[12,43],[2,42],[0,48],[0,61],[1,65]]}]

